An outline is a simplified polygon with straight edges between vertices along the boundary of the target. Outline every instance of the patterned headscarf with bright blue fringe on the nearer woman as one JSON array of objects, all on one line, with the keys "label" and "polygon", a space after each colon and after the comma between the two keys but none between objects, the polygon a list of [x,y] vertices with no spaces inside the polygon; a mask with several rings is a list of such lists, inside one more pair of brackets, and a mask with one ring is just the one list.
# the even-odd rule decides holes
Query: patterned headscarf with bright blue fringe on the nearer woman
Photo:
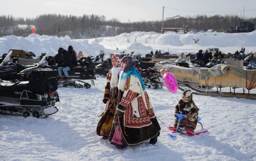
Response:
[{"label": "patterned headscarf with bright blue fringe on the nearer woman", "polygon": [[138,71],[138,69],[135,68],[134,58],[132,56],[124,56],[121,62],[126,64],[126,67],[123,70],[123,74],[121,75],[121,79],[128,79],[132,74],[140,80],[142,89],[145,90],[145,86],[141,78],[141,74]]}]

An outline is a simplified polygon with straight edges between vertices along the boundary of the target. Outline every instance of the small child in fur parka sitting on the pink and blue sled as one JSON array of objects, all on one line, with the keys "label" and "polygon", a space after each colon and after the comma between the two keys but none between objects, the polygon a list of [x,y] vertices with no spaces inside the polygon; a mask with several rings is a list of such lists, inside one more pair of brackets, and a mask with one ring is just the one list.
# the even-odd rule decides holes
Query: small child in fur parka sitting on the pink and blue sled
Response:
[{"label": "small child in fur parka sitting on the pink and blue sled", "polygon": [[[186,115],[181,120],[179,128],[185,128],[194,132],[198,119],[199,109],[192,100],[192,92],[187,89],[182,93],[182,99],[175,107],[175,113]],[[176,116],[175,116],[176,117]],[[178,118],[175,118],[174,128],[177,127]]]}]

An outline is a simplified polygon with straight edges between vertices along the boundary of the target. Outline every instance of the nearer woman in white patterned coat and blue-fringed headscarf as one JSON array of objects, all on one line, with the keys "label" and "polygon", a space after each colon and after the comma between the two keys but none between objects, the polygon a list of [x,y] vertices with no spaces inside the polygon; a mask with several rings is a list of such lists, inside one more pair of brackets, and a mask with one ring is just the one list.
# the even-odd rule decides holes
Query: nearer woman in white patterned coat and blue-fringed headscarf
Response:
[{"label": "nearer woman in white patterned coat and blue-fringed headscarf", "polygon": [[133,57],[124,56],[121,68],[118,103],[109,141],[117,148],[137,145],[148,139],[155,144],[161,128]]}]

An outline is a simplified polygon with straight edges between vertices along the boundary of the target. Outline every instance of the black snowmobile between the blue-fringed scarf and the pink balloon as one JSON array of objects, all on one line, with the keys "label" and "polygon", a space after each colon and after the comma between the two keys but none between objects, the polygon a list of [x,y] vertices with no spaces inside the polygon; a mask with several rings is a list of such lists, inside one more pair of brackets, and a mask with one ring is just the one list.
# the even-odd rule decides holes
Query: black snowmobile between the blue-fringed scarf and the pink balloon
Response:
[{"label": "black snowmobile between the blue-fringed scarf and the pink balloon", "polygon": [[162,76],[155,68],[142,69],[140,73],[146,87],[162,89]]}]

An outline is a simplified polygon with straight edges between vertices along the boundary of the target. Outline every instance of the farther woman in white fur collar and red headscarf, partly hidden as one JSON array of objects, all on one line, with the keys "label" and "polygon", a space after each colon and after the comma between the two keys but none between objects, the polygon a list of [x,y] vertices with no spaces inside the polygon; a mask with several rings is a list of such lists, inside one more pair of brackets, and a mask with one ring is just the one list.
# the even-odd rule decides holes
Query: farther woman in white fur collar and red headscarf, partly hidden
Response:
[{"label": "farther woman in white fur collar and red headscarf, partly hidden", "polygon": [[101,119],[97,125],[96,133],[103,139],[108,139],[113,118],[115,114],[115,106],[117,105],[118,95],[118,79],[121,72],[121,57],[113,55],[111,57],[113,68],[107,75],[107,85],[105,87],[103,103],[106,104],[105,111],[101,114]]}]

